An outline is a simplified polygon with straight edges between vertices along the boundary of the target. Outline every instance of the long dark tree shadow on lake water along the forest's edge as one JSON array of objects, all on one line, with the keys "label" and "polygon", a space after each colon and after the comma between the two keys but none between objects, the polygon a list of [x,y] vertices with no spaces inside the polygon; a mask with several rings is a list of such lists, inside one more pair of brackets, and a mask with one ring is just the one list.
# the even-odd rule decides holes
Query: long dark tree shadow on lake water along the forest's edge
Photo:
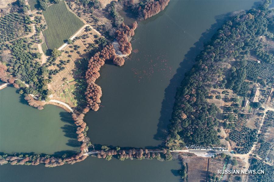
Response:
[{"label": "long dark tree shadow on lake water along the forest's edge", "polygon": [[164,145],[167,136],[167,125],[170,123],[169,120],[173,111],[177,87],[180,86],[184,74],[190,70],[195,63],[195,58],[203,50],[203,45],[214,35],[214,33],[216,33],[218,28],[221,27],[230,14],[231,13],[215,16],[216,23],[212,24],[206,32],[202,33],[200,39],[194,43],[194,46],[184,55],[184,59],[176,70],[176,74],[174,74],[173,78],[170,80],[170,84],[165,89],[157,132],[153,137],[155,140],[162,140],[162,145]]}]

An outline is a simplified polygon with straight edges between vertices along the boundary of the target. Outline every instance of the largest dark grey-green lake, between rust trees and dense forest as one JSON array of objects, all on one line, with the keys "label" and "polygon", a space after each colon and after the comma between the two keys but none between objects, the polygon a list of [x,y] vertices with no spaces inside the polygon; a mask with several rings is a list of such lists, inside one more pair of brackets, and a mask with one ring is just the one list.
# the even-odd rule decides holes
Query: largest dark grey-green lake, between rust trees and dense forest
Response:
[{"label": "largest dark grey-green lake, between rust trees and dense forest", "polygon": [[139,23],[123,67],[106,64],[97,84],[101,108],[85,122],[94,144],[153,148],[162,143],[176,88],[228,13],[255,1],[170,1]]}]

